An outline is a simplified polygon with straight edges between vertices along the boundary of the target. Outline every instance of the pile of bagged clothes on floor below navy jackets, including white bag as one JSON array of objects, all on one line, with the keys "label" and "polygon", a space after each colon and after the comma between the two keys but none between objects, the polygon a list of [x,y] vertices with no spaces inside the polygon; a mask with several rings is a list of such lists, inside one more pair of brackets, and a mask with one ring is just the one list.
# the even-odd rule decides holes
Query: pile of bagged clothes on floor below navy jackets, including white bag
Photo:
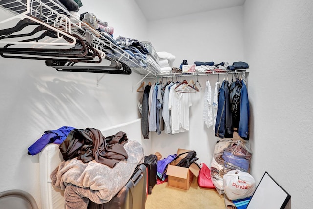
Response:
[{"label": "pile of bagged clothes on floor below navy jackets, including white bag", "polygon": [[[229,199],[229,202],[233,201],[233,203],[236,203],[237,206],[242,206],[239,209],[245,209],[244,206],[246,206],[249,201],[248,197],[252,196],[255,189],[255,181],[251,181],[252,183],[250,185],[248,180],[235,178],[235,180],[238,180],[239,183],[236,184],[232,182],[231,185],[229,185],[229,176],[244,174],[245,177],[249,176],[249,178],[253,179],[253,177],[249,174],[251,157],[252,152],[248,141],[244,143],[240,140],[219,139],[215,144],[211,162],[212,182],[218,193],[224,194],[225,199]],[[241,186],[240,184],[243,183],[249,185]],[[234,187],[233,185],[236,185],[237,187]],[[241,192],[246,193],[234,193],[232,189],[236,188],[240,189]],[[225,189],[227,189],[227,191],[225,191]],[[239,193],[241,196],[238,195]],[[238,198],[236,198],[236,195]],[[233,209],[236,209],[234,204],[232,204]]]}]

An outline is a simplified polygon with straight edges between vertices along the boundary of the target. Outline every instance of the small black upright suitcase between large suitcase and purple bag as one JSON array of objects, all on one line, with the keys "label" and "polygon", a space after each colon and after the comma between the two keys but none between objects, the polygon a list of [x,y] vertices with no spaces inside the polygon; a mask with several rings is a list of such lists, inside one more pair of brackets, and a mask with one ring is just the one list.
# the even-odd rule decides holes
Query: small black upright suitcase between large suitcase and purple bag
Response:
[{"label": "small black upright suitcase between large suitcase and purple bag", "polygon": [[148,194],[151,194],[152,188],[155,186],[157,181],[157,156],[145,156],[143,164],[148,168]]}]

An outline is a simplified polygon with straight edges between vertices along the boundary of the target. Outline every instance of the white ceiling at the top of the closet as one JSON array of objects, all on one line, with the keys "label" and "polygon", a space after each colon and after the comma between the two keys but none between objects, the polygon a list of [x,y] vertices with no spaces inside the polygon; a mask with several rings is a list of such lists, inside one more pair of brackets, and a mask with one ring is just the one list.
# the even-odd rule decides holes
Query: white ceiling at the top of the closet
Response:
[{"label": "white ceiling at the top of the closet", "polygon": [[245,0],[135,0],[147,20],[240,6]]}]

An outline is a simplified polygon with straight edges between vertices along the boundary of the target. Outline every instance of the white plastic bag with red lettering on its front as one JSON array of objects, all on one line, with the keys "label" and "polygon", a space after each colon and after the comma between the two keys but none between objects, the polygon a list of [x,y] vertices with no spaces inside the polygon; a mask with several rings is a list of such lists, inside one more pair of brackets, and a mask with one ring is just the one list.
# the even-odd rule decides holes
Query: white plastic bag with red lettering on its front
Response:
[{"label": "white plastic bag with red lettering on its front", "polygon": [[244,199],[253,195],[255,179],[247,172],[232,170],[223,176],[223,189],[229,200]]}]

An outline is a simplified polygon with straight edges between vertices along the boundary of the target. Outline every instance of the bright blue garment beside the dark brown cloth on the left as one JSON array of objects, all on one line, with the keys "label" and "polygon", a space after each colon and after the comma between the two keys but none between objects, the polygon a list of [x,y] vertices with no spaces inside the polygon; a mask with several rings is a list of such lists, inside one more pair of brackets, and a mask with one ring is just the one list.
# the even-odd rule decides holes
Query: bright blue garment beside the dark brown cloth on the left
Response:
[{"label": "bright blue garment beside the dark brown cloth on the left", "polygon": [[62,126],[57,130],[45,131],[35,143],[28,147],[28,154],[36,155],[49,143],[61,144],[71,130],[76,129],[70,126]]}]

